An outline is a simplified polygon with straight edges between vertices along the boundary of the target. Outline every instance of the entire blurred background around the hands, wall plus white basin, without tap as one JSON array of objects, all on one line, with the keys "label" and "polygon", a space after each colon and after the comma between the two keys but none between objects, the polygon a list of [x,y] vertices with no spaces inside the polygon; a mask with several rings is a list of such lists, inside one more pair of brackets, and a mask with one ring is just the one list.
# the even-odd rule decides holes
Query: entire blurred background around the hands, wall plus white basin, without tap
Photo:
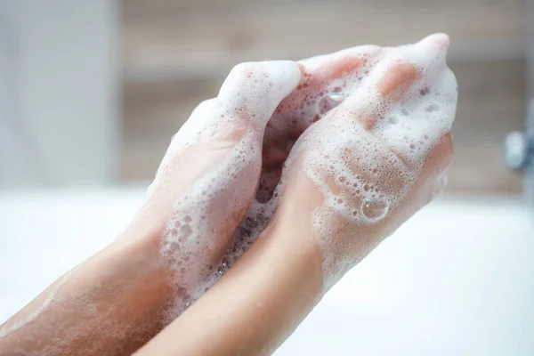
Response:
[{"label": "entire blurred background around the hands, wall plus white basin, without tap", "polygon": [[[0,323],[124,229],[236,63],[436,31],[459,84],[445,197],[277,356],[533,355],[534,219],[502,147],[534,96],[534,0],[0,0]],[[525,137],[510,140],[515,166]]]}]

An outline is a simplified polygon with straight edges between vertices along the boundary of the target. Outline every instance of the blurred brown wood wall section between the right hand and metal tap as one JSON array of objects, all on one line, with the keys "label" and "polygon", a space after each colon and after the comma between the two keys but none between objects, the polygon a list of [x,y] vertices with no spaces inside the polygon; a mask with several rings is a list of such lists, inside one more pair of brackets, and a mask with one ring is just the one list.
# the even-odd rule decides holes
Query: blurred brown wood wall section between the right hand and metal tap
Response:
[{"label": "blurred brown wood wall section between the right hand and metal tap", "polygon": [[521,177],[506,168],[502,142],[524,125],[525,62],[452,63],[451,68],[459,100],[450,190],[520,191]]}]

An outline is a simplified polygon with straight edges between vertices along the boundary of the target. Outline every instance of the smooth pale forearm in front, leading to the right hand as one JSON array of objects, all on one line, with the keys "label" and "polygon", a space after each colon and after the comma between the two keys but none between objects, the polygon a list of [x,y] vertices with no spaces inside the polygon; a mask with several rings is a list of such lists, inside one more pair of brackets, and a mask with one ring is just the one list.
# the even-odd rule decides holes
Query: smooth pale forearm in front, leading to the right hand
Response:
[{"label": "smooth pale forearm in front, leading to the right hand", "polygon": [[139,355],[264,355],[295,330],[323,295],[322,257],[309,215],[281,208],[223,279]]}]

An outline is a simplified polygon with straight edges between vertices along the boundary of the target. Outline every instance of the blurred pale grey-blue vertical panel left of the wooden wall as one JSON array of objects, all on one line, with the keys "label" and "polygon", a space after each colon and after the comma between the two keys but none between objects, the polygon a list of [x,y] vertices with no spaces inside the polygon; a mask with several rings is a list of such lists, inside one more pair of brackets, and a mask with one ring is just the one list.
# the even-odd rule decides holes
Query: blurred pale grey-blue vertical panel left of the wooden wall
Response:
[{"label": "blurred pale grey-blue vertical panel left of the wooden wall", "polygon": [[118,4],[0,0],[0,188],[118,172]]}]

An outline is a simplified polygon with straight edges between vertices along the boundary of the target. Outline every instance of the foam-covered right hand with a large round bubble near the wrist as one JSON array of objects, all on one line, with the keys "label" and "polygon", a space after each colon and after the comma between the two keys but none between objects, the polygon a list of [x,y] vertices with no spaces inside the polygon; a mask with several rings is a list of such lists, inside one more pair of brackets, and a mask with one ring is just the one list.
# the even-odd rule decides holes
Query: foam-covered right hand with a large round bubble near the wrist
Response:
[{"label": "foam-covered right hand with a large round bubble near the wrist", "polygon": [[297,214],[311,217],[327,287],[442,188],[457,103],[448,45],[433,35],[369,55],[360,86],[291,152],[281,199],[310,206]]}]

